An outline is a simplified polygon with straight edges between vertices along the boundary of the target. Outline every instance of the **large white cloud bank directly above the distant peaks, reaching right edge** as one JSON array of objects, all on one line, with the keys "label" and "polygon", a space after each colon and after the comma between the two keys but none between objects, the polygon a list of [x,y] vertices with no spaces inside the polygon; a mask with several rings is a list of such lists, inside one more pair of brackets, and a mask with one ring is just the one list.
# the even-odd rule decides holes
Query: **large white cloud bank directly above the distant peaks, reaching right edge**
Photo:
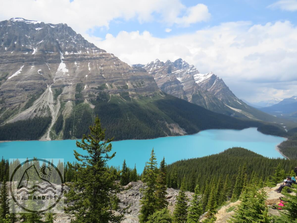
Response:
[{"label": "large white cloud bank directly above the distant peaks, reaching right edge", "polygon": [[182,58],[201,73],[213,71],[244,99],[297,94],[297,27],[289,21],[222,23],[167,38],[138,31],[108,34],[105,40],[90,38],[129,64]]}]

